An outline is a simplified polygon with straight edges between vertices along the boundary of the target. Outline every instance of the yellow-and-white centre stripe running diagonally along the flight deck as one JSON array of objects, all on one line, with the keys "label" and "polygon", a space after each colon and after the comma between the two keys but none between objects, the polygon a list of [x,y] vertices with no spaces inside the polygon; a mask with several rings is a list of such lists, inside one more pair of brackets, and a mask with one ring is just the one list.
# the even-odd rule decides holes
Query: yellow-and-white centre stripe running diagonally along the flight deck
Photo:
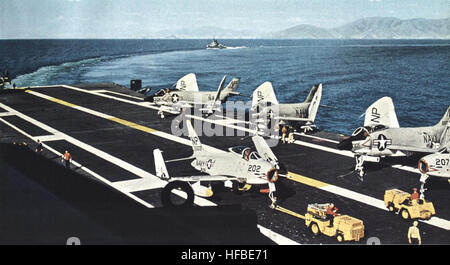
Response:
[{"label": "yellow-and-white centre stripe running diagonally along the flight deck", "polygon": [[[76,108],[76,109],[81,110],[81,111],[86,111],[86,112],[91,113],[93,115],[98,113],[97,111],[93,111],[93,110],[90,110],[90,109],[87,109],[87,108],[83,108],[83,107],[78,108],[77,105],[73,105],[71,103],[68,103],[68,102],[65,102],[65,101],[62,101],[62,100],[59,100],[59,99],[48,97],[46,95],[43,95],[42,93],[38,93],[38,92],[35,92],[35,91],[29,91],[29,93],[31,93],[31,94],[33,94],[35,96],[38,96],[38,97],[48,98],[51,101],[54,101],[54,102],[57,102],[59,104],[63,104],[63,105],[66,105],[66,106],[69,106],[69,107],[72,107],[72,108]],[[157,130],[154,130],[154,129],[151,129],[151,128],[148,128],[148,127],[145,127],[145,126],[141,126],[141,125],[138,125],[140,127],[137,127],[137,125],[132,123],[132,122],[125,121],[125,120],[120,120],[120,119],[112,117],[110,115],[102,114],[102,115],[98,115],[98,116],[99,117],[101,117],[101,116],[109,117],[108,118],[109,120],[116,121],[116,122],[119,120],[119,121],[121,121],[120,122],[121,124],[130,126],[130,127],[134,127],[136,129],[139,129],[139,130],[142,130],[142,131],[154,134],[154,135],[158,135],[158,136],[161,136],[161,137],[169,139],[169,140],[173,139],[173,141],[176,141],[176,142],[179,142],[179,143],[191,146],[191,142],[189,140],[181,138],[181,137],[178,137],[178,136],[174,136],[174,135],[171,135],[171,134],[168,134],[168,133],[157,131]],[[302,142],[302,141],[297,141],[297,140],[295,142],[298,142],[297,144],[299,144],[299,145],[305,145],[305,146],[308,146],[308,147],[309,146],[314,146],[314,144],[307,143],[307,142]],[[217,148],[212,147],[212,146],[208,146],[208,145],[205,145],[205,144],[203,144],[203,146],[204,146],[205,149],[209,148],[212,151],[223,152],[222,150],[217,149]],[[337,153],[337,154],[344,154],[344,155],[353,157],[353,153],[351,153],[350,151],[341,151],[341,150],[337,150],[337,149],[333,149],[333,148],[329,148],[329,147],[325,147],[325,146],[320,146],[320,145],[318,146],[317,149],[321,149],[321,150],[324,150],[324,151]],[[353,199],[353,200],[365,203],[367,205],[371,205],[371,206],[376,207],[376,208],[381,208],[382,207],[381,206],[382,204],[380,203],[381,200],[373,198],[371,196],[367,196],[367,195],[360,194],[360,193],[357,193],[357,192],[354,192],[354,191],[343,189],[343,188],[340,188],[340,187],[337,187],[337,186],[334,186],[334,185],[331,185],[331,184],[328,184],[328,183],[324,183],[324,182],[321,182],[321,181],[318,181],[318,180],[315,180],[315,179],[311,179],[311,178],[308,178],[308,177],[301,176],[301,175],[296,174],[296,173],[291,173],[291,174],[297,176],[296,178],[292,178],[293,180],[297,180],[298,182],[301,182],[303,184],[306,184],[306,185],[309,185],[309,186],[313,186],[313,187],[316,187],[316,188],[319,188],[319,189],[323,189],[323,187],[329,186],[330,187],[330,188],[328,188],[329,190],[326,190],[326,191],[329,191],[329,192],[332,192],[334,194],[337,194],[337,195],[340,195],[340,196],[343,196],[343,197],[347,197],[347,198],[350,198],[350,199]],[[323,190],[325,190],[325,189],[323,189]],[[383,206],[383,208],[384,208],[384,206]],[[384,208],[384,210],[386,210],[386,209]],[[442,229],[450,230],[450,221],[445,220],[445,219],[441,219],[441,218],[438,218],[438,217],[433,217],[431,220],[423,221],[423,222],[428,223],[430,225],[434,225],[434,226],[442,228]]]}]

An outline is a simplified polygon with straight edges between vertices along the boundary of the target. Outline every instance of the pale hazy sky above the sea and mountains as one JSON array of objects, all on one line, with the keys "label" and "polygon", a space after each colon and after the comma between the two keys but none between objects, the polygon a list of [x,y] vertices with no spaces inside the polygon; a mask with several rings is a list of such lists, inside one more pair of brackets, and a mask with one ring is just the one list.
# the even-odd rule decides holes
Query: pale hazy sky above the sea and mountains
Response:
[{"label": "pale hazy sky above the sea and mountains", "polygon": [[0,0],[0,10],[3,39],[139,38],[206,26],[271,32],[373,16],[447,18],[450,0]]}]

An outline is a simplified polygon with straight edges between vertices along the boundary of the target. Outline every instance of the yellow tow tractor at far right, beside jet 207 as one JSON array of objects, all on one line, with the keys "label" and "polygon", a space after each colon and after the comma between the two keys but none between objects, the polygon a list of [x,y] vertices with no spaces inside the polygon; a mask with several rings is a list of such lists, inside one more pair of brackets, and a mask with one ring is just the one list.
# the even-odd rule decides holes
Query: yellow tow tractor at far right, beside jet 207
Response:
[{"label": "yellow tow tractor at far right, beside jet 207", "polygon": [[384,204],[390,212],[398,213],[403,219],[430,219],[436,214],[432,202],[425,199],[410,200],[411,194],[391,189],[384,193]]}]

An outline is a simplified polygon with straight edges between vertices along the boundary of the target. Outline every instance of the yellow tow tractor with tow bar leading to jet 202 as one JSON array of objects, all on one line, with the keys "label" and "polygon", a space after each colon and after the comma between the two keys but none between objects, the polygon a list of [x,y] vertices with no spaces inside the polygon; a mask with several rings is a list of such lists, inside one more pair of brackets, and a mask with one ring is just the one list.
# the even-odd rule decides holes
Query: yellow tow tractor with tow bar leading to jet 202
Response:
[{"label": "yellow tow tractor with tow bar leading to jet 202", "polygon": [[280,206],[276,206],[275,209],[304,219],[305,225],[314,235],[324,234],[329,237],[335,237],[338,242],[358,242],[364,237],[363,221],[348,215],[335,216],[333,226],[329,227],[330,221],[326,219],[326,211],[329,205],[329,203],[308,204],[308,208],[304,216]]}]

